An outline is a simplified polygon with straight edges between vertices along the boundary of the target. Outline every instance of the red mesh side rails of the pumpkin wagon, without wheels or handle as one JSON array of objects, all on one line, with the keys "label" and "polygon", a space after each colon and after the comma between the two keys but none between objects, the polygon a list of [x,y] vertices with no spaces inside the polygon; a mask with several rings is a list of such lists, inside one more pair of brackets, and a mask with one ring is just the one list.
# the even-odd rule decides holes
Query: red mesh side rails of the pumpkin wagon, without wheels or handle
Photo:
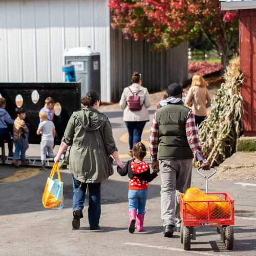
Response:
[{"label": "red mesh side rails of the pumpkin wagon, without wheels or handle", "polygon": [[[206,193],[212,200],[184,201],[180,196],[180,214],[184,226],[234,225],[234,200],[227,193]],[[221,200],[215,200],[215,197]]]}]

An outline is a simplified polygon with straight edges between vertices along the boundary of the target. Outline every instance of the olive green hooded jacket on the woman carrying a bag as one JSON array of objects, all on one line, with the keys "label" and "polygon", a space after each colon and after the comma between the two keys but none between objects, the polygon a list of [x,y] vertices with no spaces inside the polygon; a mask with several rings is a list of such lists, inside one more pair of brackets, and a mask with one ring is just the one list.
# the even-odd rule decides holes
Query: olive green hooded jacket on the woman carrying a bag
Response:
[{"label": "olive green hooded jacket on the woman carrying a bag", "polygon": [[85,183],[99,183],[113,171],[110,155],[117,151],[109,119],[93,108],[84,108],[70,117],[62,141],[71,146],[69,168]]}]

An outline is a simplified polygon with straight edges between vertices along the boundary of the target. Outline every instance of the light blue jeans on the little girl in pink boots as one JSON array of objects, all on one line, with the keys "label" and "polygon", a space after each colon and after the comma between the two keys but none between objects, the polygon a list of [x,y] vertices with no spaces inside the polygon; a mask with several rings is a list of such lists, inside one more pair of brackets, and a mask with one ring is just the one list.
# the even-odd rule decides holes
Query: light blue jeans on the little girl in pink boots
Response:
[{"label": "light blue jeans on the little girl in pink boots", "polygon": [[129,190],[129,210],[136,209],[138,214],[145,213],[147,199],[147,189],[143,190]]}]

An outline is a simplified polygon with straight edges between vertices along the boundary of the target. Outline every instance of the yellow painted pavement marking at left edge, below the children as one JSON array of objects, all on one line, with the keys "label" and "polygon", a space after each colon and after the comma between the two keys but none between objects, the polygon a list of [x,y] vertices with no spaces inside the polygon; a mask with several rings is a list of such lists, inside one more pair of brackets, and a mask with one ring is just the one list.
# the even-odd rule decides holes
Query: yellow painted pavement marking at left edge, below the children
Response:
[{"label": "yellow painted pavement marking at left edge, below the children", "polygon": [[17,170],[13,175],[0,180],[0,183],[18,182],[27,180],[40,173],[39,169],[36,168],[23,168]]}]

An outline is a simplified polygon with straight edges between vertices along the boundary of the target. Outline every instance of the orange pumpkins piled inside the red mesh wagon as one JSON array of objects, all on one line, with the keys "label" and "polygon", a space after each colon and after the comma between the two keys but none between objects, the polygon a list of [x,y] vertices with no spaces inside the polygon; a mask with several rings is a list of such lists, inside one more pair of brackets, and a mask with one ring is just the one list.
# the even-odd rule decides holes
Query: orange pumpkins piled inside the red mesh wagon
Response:
[{"label": "orange pumpkins piled inside the red mesh wagon", "polygon": [[[221,201],[220,197],[214,195],[206,195],[199,188],[188,188],[183,195],[183,200],[185,202],[200,201],[186,204],[186,211],[193,217],[196,217],[196,219],[208,219],[208,208],[211,219],[222,219],[230,216],[230,205],[228,202]],[[207,203],[207,201],[220,202]]]}]

